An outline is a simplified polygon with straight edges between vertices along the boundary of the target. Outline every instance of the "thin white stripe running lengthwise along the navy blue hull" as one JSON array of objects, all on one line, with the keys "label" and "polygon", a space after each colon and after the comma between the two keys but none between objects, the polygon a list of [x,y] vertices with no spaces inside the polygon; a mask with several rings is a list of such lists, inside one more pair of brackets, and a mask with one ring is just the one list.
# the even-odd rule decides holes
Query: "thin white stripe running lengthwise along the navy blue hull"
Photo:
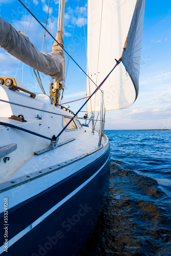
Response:
[{"label": "thin white stripe running lengthwise along the navy blue hull", "polygon": [[[108,150],[109,151],[109,150]],[[107,152],[108,152],[107,151]],[[105,154],[104,154],[105,155]],[[104,156],[103,155],[103,156]],[[15,242],[17,242],[20,238],[24,237],[25,234],[27,234],[30,230],[32,230],[34,227],[36,227],[40,222],[45,220],[49,215],[51,215],[58,207],[60,207],[63,203],[67,202],[70,198],[72,198],[81,188],[86,186],[99,172],[100,170],[108,163],[109,161],[109,153],[108,158],[103,163],[103,165],[86,181],[84,181],[81,185],[79,185],[75,190],[73,190],[69,195],[67,195],[65,198],[63,198],[60,202],[58,202],[56,205],[54,205],[52,208],[50,208],[48,211],[45,212],[45,214],[41,215],[38,219],[36,219],[34,222],[32,222],[29,226],[24,228],[22,231],[17,233],[13,238],[11,238],[8,241],[8,248],[12,246]],[[0,247],[0,253],[4,251],[4,245]]]}]

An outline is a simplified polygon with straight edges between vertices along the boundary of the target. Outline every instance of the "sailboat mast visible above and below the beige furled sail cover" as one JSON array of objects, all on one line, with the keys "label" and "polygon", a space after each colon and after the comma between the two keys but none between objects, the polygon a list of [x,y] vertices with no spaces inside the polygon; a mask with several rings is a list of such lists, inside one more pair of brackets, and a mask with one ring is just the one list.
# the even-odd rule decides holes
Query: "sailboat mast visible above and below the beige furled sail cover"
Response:
[{"label": "sailboat mast visible above and below the beige furled sail cover", "polygon": [[[62,40],[62,45],[63,45],[64,13],[65,13],[65,0],[59,0],[59,13],[58,13],[56,37],[60,38],[59,41]],[[56,42],[54,42],[53,47],[55,46],[56,46]],[[50,97],[53,99],[54,104],[59,104],[60,92],[61,90],[63,90],[63,84],[61,83],[61,80],[63,79],[55,79],[55,82],[50,84]]]}]

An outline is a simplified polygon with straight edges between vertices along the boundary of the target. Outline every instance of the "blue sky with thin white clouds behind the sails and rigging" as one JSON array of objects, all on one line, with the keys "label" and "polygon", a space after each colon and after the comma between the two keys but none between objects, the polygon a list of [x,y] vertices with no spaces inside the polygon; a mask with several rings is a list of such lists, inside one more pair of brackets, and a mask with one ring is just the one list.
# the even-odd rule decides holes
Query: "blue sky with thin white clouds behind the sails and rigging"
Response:
[{"label": "blue sky with thin white clouds behind the sails and rigging", "polygon": [[[23,0],[26,3],[26,0]],[[74,32],[72,57],[86,71],[86,47],[84,43],[82,3],[79,1],[76,27]],[[87,24],[87,1],[83,1],[85,23]],[[70,43],[75,22],[75,13],[78,1],[66,1],[64,40],[65,48],[70,51]],[[45,24],[48,0],[27,0],[29,9]],[[35,8],[34,8],[35,5]],[[0,15],[7,19],[17,30],[24,32],[25,9],[16,0],[0,0]],[[58,16],[58,0],[51,0],[51,26],[48,19],[48,29],[56,35]],[[31,20],[31,23],[30,23]],[[30,28],[28,31],[28,27]],[[87,26],[86,26],[87,29]],[[26,12],[27,34],[33,44],[41,51],[44,29],[37,24],[34,18]],[[47,35],[48,51],[51,51],[51,38]],[[52,41],[53,44],[53,41]],[[171,129],[171,1],[146,0],[144,30],[142,41],[142,58],[139,80],[139,96],[136,102],[128,109],[108,111],[106,113],[105,129]],[[45,43],[42,51],[46,52]],[[66,56],[66,67],[68,57]],[[1,75],[16,76],[19,61],[0,49]],[[20,63],[17,78],[22,81],[28,90],[41,92],[36,86],[30,67]],[[49,78],[41,76],[46,92],[49,91]],[[66,79],[65,97],[62,102],[82,98],[86,94],[86,76],[77,68],[72,60]],[[76,111],[83,100],[70,103],[71,109]]]}]

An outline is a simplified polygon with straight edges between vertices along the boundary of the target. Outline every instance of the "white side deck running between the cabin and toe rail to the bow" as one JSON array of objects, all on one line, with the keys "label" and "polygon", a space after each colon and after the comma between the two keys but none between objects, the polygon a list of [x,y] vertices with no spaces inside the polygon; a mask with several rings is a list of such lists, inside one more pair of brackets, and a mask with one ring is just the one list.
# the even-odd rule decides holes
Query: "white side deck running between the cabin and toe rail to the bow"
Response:
[{"label": "white side deck running between the cabin and toe rail to the bow", "polygon": [[[9,180],[29,175],[30,173],[38,170],[66,162],[97,148],[99,133],[95,131],[93,134],[90,127],[84,127],[83,130],[84,132],[75,138],[75,140],[41,155],[33,155],[31,159],[29,159]],[[102,137],[101,144],[104,143],[105,139]]]}]

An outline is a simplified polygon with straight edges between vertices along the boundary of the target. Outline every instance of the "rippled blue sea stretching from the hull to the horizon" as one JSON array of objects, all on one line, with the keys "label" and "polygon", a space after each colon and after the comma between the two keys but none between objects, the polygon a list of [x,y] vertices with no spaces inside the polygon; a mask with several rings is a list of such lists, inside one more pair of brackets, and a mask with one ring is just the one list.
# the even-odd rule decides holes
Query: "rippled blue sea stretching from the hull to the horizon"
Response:
[{"label": "rippled blue sea stretching from the hull to the horizon", "polygon": [[105,131],[111,177],[87,255],[171,255],[171,131]]}]

